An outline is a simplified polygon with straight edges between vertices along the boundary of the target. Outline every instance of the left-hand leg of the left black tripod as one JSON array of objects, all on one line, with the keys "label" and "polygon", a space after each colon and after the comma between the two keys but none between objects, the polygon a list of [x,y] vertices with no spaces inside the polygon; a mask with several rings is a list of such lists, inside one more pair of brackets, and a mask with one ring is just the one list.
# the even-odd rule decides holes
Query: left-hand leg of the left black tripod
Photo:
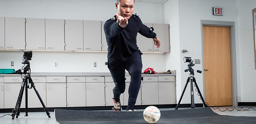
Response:
[{"label": "left-hand leg of the left black tripod", "polygon": [[[20,104],[21,104],[21,100],[22,100],[22,96],[23,96],[24,87],[25,87],[25,83],[24,83],[24,79],[23,79],[23,84],[20,87],[20,92],[19,92],[19,96],[18,96],[16,105],[15,105],[15,108],[12,110],[12,119],[14,119],[16,113],[17,113],[17,116],[19,116],[19,114],[20,114]],[[17,116],[16,116],[16,118],[17,118]]]}]

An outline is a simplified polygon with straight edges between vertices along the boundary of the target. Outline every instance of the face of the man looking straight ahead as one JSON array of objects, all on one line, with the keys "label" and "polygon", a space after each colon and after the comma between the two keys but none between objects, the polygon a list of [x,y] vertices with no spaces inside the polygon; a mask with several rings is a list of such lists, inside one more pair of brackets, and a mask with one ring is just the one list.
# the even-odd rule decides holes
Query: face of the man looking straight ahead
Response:
[{"label": "face of the man looking straight ahead", "polygon": [[119,16],[129,19],[133,15],[134,0],[121,0],[119,4],[115,3]]}]

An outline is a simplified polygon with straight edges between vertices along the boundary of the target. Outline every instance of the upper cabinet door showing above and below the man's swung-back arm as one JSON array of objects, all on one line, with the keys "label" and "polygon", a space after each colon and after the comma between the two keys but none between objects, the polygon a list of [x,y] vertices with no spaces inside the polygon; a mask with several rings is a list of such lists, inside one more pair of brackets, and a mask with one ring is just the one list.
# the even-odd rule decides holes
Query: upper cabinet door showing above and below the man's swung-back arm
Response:
[{"label": "upper cabinet door showing above and below the man's swung-back arm", "polygon": [[[144,25],[149,28],[152,27],[152,23],[144,23]],[[153,52],[153,40],[152,38],[147,38],[138,33],[137,35],[137,46],[141,51]]]}]

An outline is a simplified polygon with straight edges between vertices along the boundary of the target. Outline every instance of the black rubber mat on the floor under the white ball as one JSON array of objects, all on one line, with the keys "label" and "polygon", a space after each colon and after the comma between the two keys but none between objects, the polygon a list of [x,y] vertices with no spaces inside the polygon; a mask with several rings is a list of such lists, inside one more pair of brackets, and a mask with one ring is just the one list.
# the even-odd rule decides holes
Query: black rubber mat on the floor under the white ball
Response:
[{"label": "black rubber mat on the floor under the white ball", "polygon": [[[59,124],[147,124],[143,111],[78,111],[55,109]],[[156,124],[256,124],[256,117],[224,116],[210,108],[161,111]]]}]

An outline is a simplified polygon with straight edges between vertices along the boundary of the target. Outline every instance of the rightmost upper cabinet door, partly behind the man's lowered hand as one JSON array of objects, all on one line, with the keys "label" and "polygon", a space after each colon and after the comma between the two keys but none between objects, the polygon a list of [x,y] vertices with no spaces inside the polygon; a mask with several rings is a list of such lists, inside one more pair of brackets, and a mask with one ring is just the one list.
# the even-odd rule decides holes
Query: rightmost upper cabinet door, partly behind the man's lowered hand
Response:
[{"label": "rightmost upper cabinet door, partly behind the man's lowered hand", "polygon": [[154,47],[154,52],[170,53],[170,30],[168,24],[153,24],[154,32],[161,41],[159,48]]}]

